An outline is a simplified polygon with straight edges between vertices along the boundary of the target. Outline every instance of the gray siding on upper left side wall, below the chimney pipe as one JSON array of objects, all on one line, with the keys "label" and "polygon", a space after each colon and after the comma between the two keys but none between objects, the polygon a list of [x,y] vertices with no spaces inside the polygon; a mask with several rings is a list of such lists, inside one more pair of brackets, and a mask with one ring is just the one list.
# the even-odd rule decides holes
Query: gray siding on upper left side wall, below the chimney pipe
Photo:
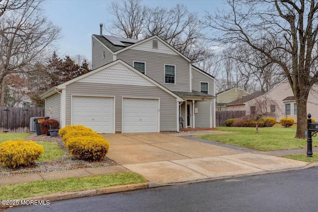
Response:
[{"label": "gray siding on upper left side wall, below the chimney pipe", "polygon": [[[94,42],[94,47],[92,46],[92,56],[91,64],[92,70],[102,67],[110,62],[113,62],[113,54],[108,51],[101,43],[99,43],[95,38],[92,38]],[[106,57],[103,58],[103,52],[106,51]]]}]

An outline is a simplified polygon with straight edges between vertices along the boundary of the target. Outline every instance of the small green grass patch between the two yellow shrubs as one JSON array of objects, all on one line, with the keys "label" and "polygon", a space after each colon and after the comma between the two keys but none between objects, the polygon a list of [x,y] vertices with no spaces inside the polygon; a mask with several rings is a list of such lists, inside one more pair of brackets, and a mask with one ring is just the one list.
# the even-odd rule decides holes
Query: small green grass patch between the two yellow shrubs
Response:
[{"label": "small green grass patch between the two yellow shrubs", "polygon": [[44,152],[39,158],[39,162],[49,161],[64,155],[64,151],[59,147],[57,142],[36,141],[44,146]]}]

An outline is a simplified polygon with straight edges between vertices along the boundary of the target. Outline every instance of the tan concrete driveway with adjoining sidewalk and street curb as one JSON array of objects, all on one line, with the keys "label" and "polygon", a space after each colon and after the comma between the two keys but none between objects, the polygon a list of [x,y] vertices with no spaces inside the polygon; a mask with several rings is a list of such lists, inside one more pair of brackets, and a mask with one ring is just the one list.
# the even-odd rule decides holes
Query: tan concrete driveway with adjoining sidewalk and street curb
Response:
[{"label": "tan concrete driveway with adjoining sidewalk and street curb", "polygon": [[[0,177],[0,185],[119,172],[136,172],[149,180],[148,184],[143,185],[123,186],[117,189],[110,187],[106,192],[109,193],[316,166],[316,163],[310,164],[276,157],[306,153],[306,149],[260,152],[191,136],[180,137],[166,134],[107,134],[103,136],[112,146],[108,157],[122,165]],[[318,148],[314,149],[314,151],[317,150]],[[67,194],[67,198],[76,198],[101,193],[93,190],[88,193],[79,191]],[[34,198],[49,197],[53,201],[66,199],[65,195],[66,193]]]}]

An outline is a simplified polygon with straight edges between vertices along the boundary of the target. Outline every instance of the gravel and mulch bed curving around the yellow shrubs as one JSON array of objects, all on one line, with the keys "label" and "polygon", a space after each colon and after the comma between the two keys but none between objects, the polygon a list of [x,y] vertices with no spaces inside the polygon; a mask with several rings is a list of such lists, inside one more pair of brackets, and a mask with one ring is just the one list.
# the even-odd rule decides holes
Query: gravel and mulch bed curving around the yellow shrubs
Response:
[{"label": "gravel and mulch bed curving around the yellow shrubs", "polygon": [[106,157],[100,162],[88,162],[85,160],[80,160],[70,155],[65,149],[65,143],[62,142],[60,137],[50,137],[46,135],[36,136],[24,139],[25,141],[48,141],[57,142],[58,145],[64,150],[65,154],[57,159],[46,161],[46,162],[35,162],[30,167],[20,167],[17,169],[6,168],[0,165],[0,177],[18,175],[18,174],[28,174],[28,173],[41,173],[41,172],[51,172],[51,171],[63,171],[72,170],[79,168],[89,168],[89,167],[103,167],[103,166],[113,166],[120,165],[116,161]]}]

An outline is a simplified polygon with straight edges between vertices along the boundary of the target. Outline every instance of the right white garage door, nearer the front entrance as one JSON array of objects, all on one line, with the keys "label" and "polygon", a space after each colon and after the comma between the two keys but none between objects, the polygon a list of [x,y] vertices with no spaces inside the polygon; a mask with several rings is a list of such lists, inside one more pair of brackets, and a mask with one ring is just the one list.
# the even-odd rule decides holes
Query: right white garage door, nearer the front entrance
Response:
[{"label": "right white garage door, nearer the front entrance", "polygon": [[123,133],[158,132],[158,99],[123,99]]}]

